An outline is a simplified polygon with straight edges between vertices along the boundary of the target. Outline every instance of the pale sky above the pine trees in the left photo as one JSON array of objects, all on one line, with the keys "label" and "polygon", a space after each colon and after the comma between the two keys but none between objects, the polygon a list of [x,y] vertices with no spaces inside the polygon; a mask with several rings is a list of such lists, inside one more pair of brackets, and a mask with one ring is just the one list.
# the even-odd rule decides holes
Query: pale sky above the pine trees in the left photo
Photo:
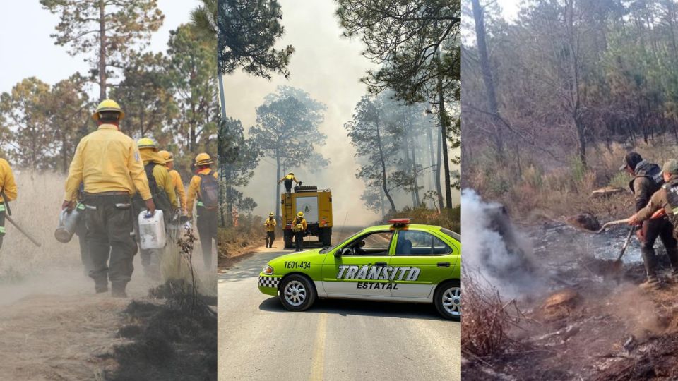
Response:
[{"label": "pale sky above the pine trees in the left photo", "polygon": [[[165,52],[169,30],[190,20],[197,0],[159,0],[165,13],[165,23],[153,34],[150,48]],[[23,78],[35,76],[54,84],[80,71],[88,72],[84,56],[71,57],[65,47],[54,44],[49,37],[59,18],[42,9],[38,0],[0,0],[0,92],[10,91]],[[98,94],[98,88],[93,89]]]}]

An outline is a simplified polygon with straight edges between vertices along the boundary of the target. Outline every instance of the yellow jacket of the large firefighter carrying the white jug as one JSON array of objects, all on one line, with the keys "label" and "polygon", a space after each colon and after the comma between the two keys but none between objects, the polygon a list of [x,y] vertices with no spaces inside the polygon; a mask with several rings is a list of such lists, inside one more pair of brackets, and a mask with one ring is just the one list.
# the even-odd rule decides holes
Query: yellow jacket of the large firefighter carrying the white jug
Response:
[{"label": "yellow jacket of the large firefighter carrying the white jug", "polygon": [[151,198],[136,143],[112,124],[102,124],[78,143],[64,200],[76,200],[81,182],[86,193],[118,191],[133,195],[138,190],[143,200]]}]

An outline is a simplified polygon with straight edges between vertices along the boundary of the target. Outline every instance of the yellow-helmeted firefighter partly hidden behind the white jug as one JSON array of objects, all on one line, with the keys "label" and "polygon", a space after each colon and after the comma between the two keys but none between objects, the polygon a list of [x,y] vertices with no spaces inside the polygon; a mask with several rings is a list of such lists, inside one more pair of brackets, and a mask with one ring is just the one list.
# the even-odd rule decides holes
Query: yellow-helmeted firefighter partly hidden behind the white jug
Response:
[{"label": "yellow-helmeted firefighter partly hidden behind the white jug", "polygon": [[[141,153],[141,161],[148,179],[148,188],[153,196],[155,207],[162,210],[165,226],[169,224],[174,215],[174,210],[179,208],[177,193],[174,192],[174,181],[165,167],[165,159],[157,152],[155,142],[149,138],[141,138],[136,145]],[[144,209],[141,198],[136,196],[136,214]],[[138,220],[135,219],[138,224]],[[138,226],[137,226],[138,228]],[[137,229],[138,231],[138,229]],[[146,275],[160,277],[160,256],[162,249],[143,250],[140,248],[141,265]]]}]

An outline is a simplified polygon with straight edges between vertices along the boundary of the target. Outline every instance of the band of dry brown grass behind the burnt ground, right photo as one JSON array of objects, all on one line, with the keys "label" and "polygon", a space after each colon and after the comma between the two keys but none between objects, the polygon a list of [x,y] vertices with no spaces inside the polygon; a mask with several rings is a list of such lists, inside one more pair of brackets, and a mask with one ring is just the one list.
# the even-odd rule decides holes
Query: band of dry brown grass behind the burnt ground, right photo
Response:
[{"label": "band of dry brown grass behind the burnt ground, right photo", "polygon": [[[504,159],[500,163],[492,155],[481,155],[466,162],[465,185],[475,188],[486,199],[506,205],[519,219],[544,216],[560,219],[579,212],[626,218],[633,212],[628,185],[631,176],[619,171],[619,165],[630,149],[618,143],[591,147],[588,167],[576,159],[549,166],[539,157],[521,157],[518,165],[516,160]],[[678,147],[673,144],[641,145],[633,150],[660,165],[678,157]],[[605,186],[623,188],[625,192],[608,198],[590,197],[592,191]]]}]

